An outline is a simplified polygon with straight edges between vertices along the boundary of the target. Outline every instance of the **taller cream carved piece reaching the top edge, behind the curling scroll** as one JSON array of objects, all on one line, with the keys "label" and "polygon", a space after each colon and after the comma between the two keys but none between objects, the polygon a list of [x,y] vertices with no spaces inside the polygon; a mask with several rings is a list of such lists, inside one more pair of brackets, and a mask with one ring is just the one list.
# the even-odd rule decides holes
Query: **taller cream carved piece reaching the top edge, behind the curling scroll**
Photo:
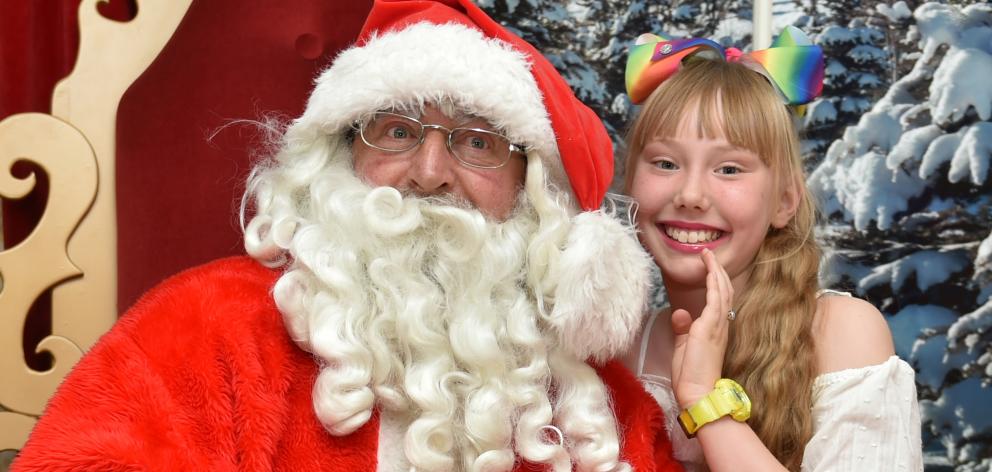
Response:
[{"label": "taller cream carved piece reaching the top edge, behind the curling scroll", "polygon": [[[131,21],[108,20],[99,0],[79,6],[79,57],[55,87],[52,115],[76,127],[96,154],[100,186],[96,200],[68,242],[69,257],[83,277],[52,292],[52,330],[71,326],[73,340],[88,349],[117,320],[117,108],[128,87],[172,37],[192,0],[138,1]],[[80,307],[86,307],[85,322]]]}]

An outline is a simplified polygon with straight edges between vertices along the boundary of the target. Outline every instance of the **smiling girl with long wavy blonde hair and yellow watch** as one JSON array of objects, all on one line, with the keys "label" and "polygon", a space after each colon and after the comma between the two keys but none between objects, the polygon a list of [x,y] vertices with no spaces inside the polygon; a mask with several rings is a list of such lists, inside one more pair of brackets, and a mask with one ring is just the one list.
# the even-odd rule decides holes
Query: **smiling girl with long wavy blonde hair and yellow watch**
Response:
[{"label": "smiling girl with long wavy blonde hair and yellow watch", "polygon": [[674,57],[628,137],[626,186],[670,306],[625,362],[689,470],[922,470],[914,371],[885,319],[819,288],[792,112],[720,55]]}]

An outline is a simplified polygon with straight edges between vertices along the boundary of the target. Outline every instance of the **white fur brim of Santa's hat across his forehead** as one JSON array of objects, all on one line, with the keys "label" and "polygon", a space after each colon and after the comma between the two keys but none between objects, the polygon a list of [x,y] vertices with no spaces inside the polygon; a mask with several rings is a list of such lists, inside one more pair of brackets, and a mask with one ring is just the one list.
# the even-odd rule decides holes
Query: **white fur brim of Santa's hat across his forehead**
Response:
[{"label": "white fur brim of Santa's hat across his forehead", "polygon": [[336,134],[374,111],[445,100],[528,146],[571,189],[527,56],[457,23],[416,23],[345,50],[318,77],[297,125]]}]

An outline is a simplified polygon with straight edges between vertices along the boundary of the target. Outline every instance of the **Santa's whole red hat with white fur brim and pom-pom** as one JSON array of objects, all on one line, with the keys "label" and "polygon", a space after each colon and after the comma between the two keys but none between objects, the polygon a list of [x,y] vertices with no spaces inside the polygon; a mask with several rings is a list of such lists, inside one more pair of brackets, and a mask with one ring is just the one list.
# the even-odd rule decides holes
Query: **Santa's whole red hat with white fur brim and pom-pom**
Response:
[{"label": "Santa's whole red hat with white fur brim and pom-pom", "polygon": [[607,358],[639,328],[650,259],[601,211],[613,148],[600,119],[533,46],[470,0],[376,0],[356,44],[317,79],[298,125],[340,135],[376,110],[450,102],[541,159],[573,198],[551,324],[566,349]]}]

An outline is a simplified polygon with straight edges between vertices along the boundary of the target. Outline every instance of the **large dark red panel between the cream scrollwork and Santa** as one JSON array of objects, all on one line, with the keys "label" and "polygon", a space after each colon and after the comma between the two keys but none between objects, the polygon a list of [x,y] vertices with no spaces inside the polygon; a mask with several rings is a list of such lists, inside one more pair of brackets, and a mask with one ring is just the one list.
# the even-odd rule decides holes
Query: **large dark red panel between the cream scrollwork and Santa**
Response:
[{"label": "large dark red panel between the cream scrollwork and Santa", "polygon": [[[242,254],[237,209],[258,129],[303,111],[313,80],[358,35],[371,1],[194,1],[124,95],[117,120],[123,310],[163,277]],[[139,12],[140,14],[140,12]]]}]

